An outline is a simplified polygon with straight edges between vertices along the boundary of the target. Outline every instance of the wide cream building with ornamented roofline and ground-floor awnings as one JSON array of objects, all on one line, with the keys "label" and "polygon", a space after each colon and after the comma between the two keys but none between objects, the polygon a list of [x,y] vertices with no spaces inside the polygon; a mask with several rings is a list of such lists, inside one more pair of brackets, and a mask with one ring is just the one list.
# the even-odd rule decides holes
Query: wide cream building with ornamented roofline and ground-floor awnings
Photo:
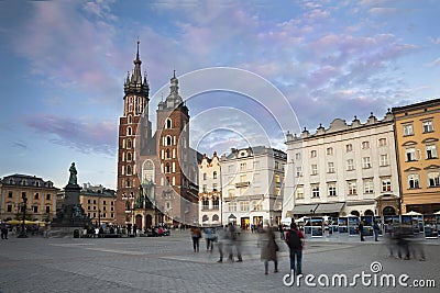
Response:
[{"label": "wide cream building with ornamented roofline and ground-floor awnings", "polygon": [[287,134],[283,216],[384,215],[399,212],[391,112],[362,124],[336,119],[329,128]]}]

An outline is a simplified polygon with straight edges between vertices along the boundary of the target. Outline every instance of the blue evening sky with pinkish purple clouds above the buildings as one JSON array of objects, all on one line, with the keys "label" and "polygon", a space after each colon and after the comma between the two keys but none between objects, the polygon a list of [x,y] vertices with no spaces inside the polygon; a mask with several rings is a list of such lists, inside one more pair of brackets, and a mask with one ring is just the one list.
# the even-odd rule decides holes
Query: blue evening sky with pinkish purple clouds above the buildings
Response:
[{"label": "blue evening sky with pinkish purple clouds above the buildings", "polygon": [[[287,131],[438,99],[440,2],[0,1],[0,177],[116,189],[123,83],[140,41],[150,120],[173,70],[191,147],[211,156]],[[256,138],[258,137],[258,138]]]}]

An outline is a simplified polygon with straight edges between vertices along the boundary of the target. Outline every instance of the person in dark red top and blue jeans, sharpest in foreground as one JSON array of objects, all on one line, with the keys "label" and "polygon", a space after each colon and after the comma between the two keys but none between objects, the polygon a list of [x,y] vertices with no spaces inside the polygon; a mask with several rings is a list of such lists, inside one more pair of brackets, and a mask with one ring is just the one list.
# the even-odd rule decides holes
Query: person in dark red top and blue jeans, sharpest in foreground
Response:
[{"label": "person in dark red top and blue jeans, sharpest in foreground", "polygon": [[286,233],[286,244],[289,247],[290,273],[293,275],[302,274],[302,248],[305,238],[302,232],[297,228],[295,222],[290,224],[290,229]]}]

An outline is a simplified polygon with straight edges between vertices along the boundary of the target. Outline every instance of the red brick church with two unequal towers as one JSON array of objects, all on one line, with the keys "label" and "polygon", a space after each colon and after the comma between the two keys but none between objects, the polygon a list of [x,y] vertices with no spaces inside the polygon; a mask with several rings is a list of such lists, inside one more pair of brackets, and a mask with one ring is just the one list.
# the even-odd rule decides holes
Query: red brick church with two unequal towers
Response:
[{"label": "red brick church with two unequal towers", "polygon": [[189,147],[189,110],[174,72],[169,94],[157,104],[156,129],[148,120],[150,86],[139,55],[124,82],[119,120],[116,222],[138,229],[198,219],[198,162]]}]

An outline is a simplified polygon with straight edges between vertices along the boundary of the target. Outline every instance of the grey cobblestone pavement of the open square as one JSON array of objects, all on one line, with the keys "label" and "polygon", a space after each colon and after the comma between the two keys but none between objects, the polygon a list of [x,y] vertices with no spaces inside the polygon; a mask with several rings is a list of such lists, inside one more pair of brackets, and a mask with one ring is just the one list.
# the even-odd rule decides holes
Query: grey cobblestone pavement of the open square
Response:
[{"label": "grey cobblestone pavement of the open square", "polygon": [[[322,286],[320,274],[373,274],[378,261],[381,274],[408,274],[413,280],[440,283],[440,257],[437,240],[426,241],[427,261],[388,257],[382,243],[358,237],[308,238],[304,251],[304,274],[316,277],[315,288],[304,283],[286,286],[289,273],[287,247],[279,240],[279,272],[264,274],[257,237],[245,234],[243,262],[218,263],[218,250],[193,252],[188,233],[169,237],[135,238],[15,238],[0,243],[0,292],[438,292],[433,288]],[[200,241],[205,248],[205,239]],[[288,279],[286,279],[288,280]],[[351,280],[351,279],[350,279]],[[322,279],[321,279],[322,281]]]}]

